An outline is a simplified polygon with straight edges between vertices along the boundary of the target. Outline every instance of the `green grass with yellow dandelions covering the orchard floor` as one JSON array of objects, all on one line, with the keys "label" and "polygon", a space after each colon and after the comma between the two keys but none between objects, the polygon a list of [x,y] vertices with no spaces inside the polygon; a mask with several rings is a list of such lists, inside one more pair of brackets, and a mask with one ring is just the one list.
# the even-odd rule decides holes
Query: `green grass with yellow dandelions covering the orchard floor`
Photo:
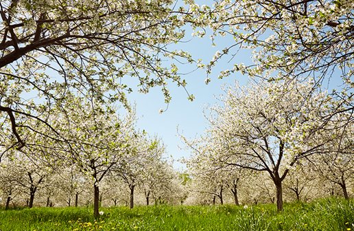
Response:
[{"label": "green grass with yellow dandelions covering the orchard floor", "polygon": [[322,199],[274,205],[142,206],[0,210],[0,230],[342,230],[354,231],[354,201]]}]

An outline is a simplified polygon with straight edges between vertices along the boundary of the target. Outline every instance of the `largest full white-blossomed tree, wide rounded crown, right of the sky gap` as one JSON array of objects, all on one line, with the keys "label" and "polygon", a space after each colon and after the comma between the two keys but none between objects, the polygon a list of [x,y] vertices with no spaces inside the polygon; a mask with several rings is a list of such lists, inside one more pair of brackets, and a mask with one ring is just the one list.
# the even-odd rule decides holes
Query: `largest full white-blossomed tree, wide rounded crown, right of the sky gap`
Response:
[{"label": "largest full white-blossomed tree, wide rounded crown, right of the sky gap", "polygon": [[299,159],[329,153],[327,143],[333,137],[321,135],[322,114],[330,109],[331,98],[316,93],[311,83],[264,83],[225,91],[223,104],[211,108],[204,141],[189,146],[220,168],[267,172],[276,187],[277,208],[283,210],[283,180],[290,169]]}]

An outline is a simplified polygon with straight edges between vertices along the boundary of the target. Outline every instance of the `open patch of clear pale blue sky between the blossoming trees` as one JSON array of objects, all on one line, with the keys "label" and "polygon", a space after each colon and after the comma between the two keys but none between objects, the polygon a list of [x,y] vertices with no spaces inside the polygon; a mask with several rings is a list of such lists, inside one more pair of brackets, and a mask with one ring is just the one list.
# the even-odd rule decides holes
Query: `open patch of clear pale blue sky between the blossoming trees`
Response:
[{"label": "open patch of clear pale blue sky between the blossoming trees", "polygon": [[[205,36],[200,39],[191,36],[191,31],[186,33],[187,43],[180,43],[174,47],[174,49],[180,49],[188,51],[193,58],[202,58],[203,63],[211,61],[213,54],[217,50],[222,50],[228,43],[230,45],[232,41],[226,38],[222,38],[217,46],[211,46],[211,40],[209,36]],[[189,41],[190,40],[190,41]],[[150,135],[158,135],[161,137],[164,144],[167,147],[167,157],[172,156],[175,160],[174,168],[182,170],[183,164],[178,162],[181,157],[189,157],[191,152],[185,148],[185,145],[178,137],[178,131],[185,135],[185,137],[193,138],[197,135],[201,135],[207,128],[207,120],[204,118],[203,110],[207,105],[215,104],[217,100],[215,96],[222,94],[222,85],[233,85],[235,80],[240,85],[246,83],[247,77],[241,76],[241,74],[235,74],[222,80],[217,79],[217,76],[221,70],[228,69],[235,63],[244,62],[250,60],[250,53],[241,54],[228,62],[224,60],[217,64],[213,73],[211,74],[211,83],[206,85],[204,83],[207,74],[204,70],[197,70],[191,72],[195,67],[190,65],[180,66],[180,72],[188,73],[182,76],[187,81],[187,90],[189,94],[196,96],[193,102],[190,102],[187,97],[185,89],[182,87],[176,87],[174,83],[169,85],[170,94],[172,96],[172,102],[169,103],[168,109],[159,113],[160,109],[166,109],[167,104],[164,102],[161,89],[158,87],[150,89],[148,94],[141,94],[134,91],[132,94],[128,94],[128,100],[136,104],[138,127],[139,129],[145,129]],[[182,147],[182,149],[180,148]]]}]

